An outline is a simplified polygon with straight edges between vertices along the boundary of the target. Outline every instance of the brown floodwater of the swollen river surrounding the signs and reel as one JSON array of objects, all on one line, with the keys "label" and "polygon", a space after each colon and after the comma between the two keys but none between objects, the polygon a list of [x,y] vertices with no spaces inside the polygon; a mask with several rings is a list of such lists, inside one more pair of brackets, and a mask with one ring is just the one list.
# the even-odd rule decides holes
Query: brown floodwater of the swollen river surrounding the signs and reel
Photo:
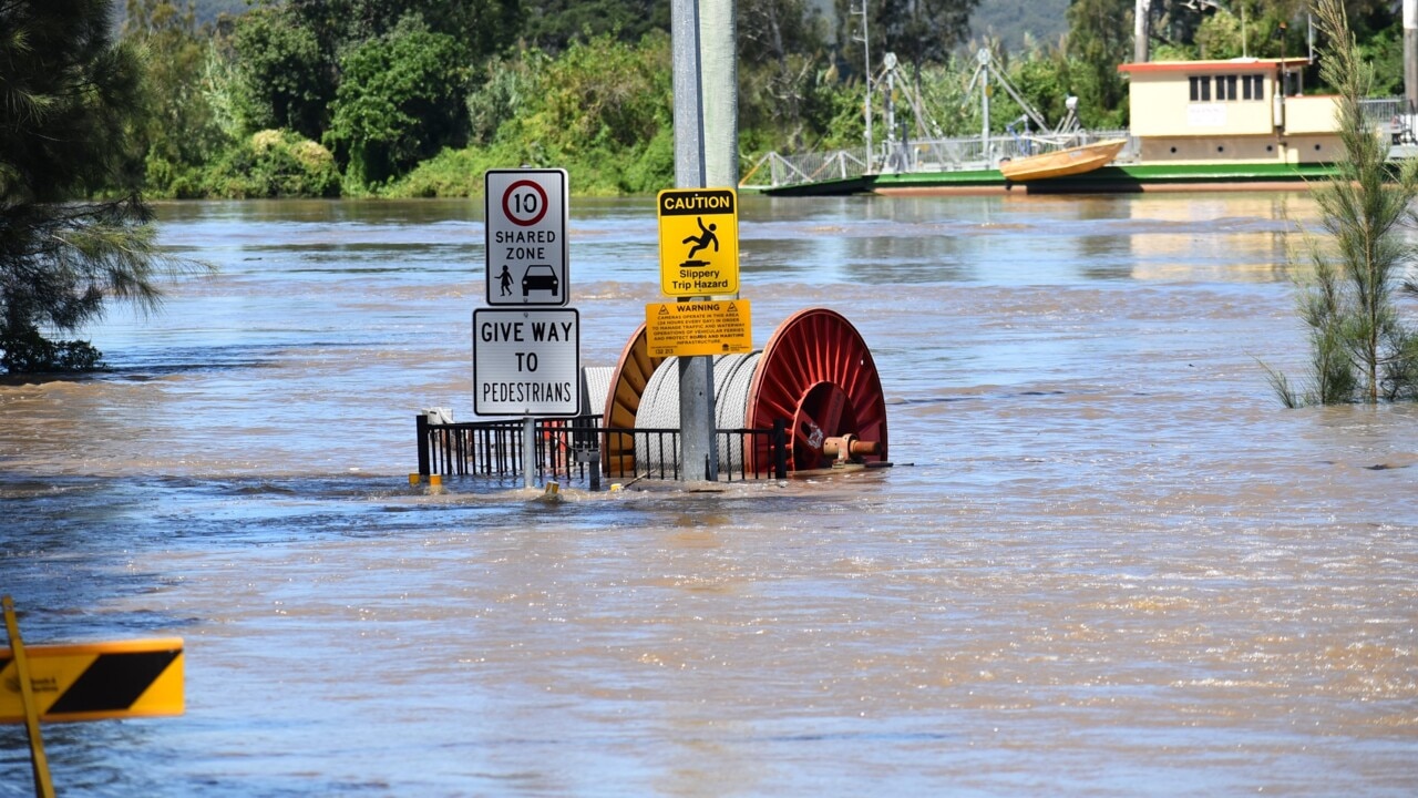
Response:
[{"label": "brown floodwater of the swollen river surrounding the signs and reel", "polygon": [[[61,795],[1418,791],[1418,408],[1258,364],[1306,361],[1307,196],[746,196],[756,345],[851,319],[896,466],[560,504],[407,480],[472,419],[481,204],[162,206],[220,271],[0,385],[26,640],[186,640],[184,716],[45,727]],[[614,365],[654,203],[570,247]]]}]

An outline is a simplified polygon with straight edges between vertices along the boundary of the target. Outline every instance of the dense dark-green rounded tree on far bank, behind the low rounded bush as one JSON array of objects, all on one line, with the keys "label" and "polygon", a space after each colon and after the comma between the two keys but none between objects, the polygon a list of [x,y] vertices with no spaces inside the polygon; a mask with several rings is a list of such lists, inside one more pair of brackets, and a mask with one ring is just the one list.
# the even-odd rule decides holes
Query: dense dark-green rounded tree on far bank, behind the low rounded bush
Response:
[{"label": "dense dark-green rounded tree on far bank, behind the low rounded bush", "polygon": [[326,142],[356,186],[403,175],[467,133],[467,55],[417,14],[340,61]]}]

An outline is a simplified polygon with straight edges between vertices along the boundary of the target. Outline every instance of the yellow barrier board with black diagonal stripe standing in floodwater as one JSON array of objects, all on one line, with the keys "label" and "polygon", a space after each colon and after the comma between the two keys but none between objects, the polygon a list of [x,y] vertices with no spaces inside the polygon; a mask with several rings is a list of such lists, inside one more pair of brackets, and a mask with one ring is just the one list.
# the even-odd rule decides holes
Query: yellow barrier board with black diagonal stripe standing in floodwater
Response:
[{"label": "yellow barrier board with black diagonal stripe standing in floodwater", "polygon": [[[40,720],[182,714],[182,638],[24,646]],[[0,723],[24,723],[20,673],[0,649]]]}]

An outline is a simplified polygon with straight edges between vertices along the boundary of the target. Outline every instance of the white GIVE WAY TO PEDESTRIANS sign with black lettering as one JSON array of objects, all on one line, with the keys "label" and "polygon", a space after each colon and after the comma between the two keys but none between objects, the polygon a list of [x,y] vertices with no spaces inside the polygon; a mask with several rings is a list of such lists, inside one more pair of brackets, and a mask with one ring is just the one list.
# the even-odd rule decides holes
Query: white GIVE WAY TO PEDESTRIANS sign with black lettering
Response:
[{"label": "white GIVE WAY TO PEDESTRIANS sign with black lettering", "polygon": [[573,308],[472,311],[472,412],[574,416],[581,410],[581,317]]}]

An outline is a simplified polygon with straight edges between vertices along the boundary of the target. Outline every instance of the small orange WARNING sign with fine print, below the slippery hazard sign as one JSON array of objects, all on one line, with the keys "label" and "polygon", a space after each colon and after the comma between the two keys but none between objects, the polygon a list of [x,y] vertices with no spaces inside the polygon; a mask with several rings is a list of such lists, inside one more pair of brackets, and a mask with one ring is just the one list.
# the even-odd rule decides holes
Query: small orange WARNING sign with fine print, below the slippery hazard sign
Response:
[{"label": "small orange WARNING sign with fine print, below the slippery hazard sign", "polygon": [[752,352],[749,301],[648,304],[645,344],[651,358]]}]

